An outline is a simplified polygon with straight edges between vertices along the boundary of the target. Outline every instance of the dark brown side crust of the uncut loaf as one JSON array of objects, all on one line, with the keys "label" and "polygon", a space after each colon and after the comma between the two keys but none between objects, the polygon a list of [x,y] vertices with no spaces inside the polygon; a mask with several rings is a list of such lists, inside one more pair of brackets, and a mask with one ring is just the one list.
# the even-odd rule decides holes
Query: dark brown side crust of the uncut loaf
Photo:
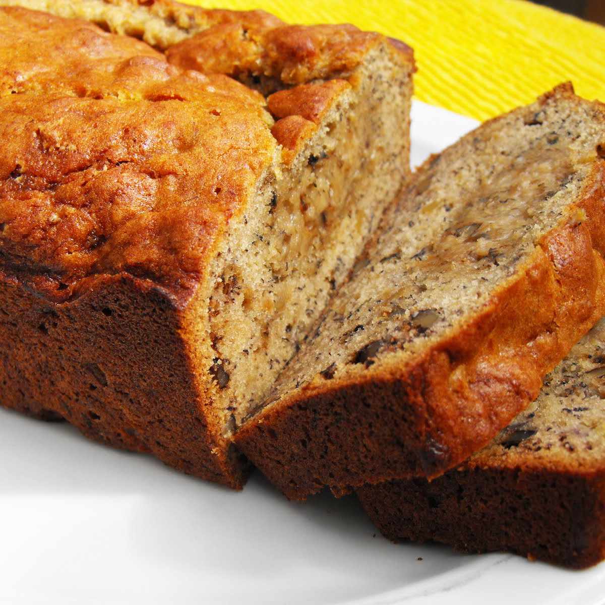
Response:
[{"label": "dark brown side crust of the uncut loaf", "polygon": [[169,293],[126,274],[60,304],[2,276],[0,405],[240,489],[249,464],[204,409],[186,326]]}]

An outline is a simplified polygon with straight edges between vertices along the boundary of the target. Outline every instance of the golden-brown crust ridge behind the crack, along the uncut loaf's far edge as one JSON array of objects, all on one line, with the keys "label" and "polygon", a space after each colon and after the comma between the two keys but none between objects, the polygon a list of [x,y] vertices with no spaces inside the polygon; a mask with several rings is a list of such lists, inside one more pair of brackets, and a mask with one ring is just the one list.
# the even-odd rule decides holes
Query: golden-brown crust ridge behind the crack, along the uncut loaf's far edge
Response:
[{"label": "golden-brown crust ridge behind the crack, along the uncut loaf's far edge", "polygon": [[[382,38],[349,24],[287,25],[262,10],[206,9],[172,0],[105,2],[126,7],[144,5],[151,15],[181,30],[184,39],[177,44],[157,37],[149,42],[168,50],[174,62],[183,67],[232,75],[247,71],[289,85],[350,73]],[[225,38],[231,44],[225,45]],[[388,38],[388,42],[415,71],[412,48],[394,38]],[[226,52],[231,67],[226,57],[217,57],[218,49]]]}]

